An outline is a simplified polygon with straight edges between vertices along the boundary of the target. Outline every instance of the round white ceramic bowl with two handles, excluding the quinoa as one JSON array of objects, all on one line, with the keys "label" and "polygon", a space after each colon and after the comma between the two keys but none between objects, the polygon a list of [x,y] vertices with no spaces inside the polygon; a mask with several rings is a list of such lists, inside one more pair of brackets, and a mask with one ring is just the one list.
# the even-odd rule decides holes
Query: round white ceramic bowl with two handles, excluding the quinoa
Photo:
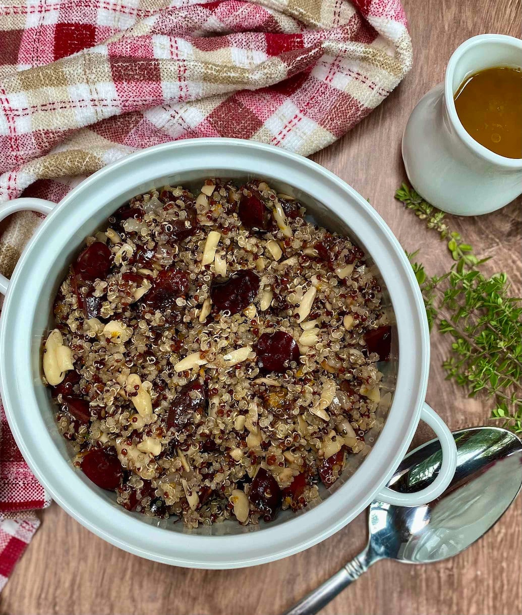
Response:
[{"label": "round white ceramic bowl with two handles, excluding the quinoa", "polygon": [[[319,223],[346,232],[371,255],[395,311],[391,362],[395,394],[382,431],[360,467],[321,493],[316,506],[273,523],[244,528],[235,522],[188,531],[181,523],[130,513],[71,465],[68,444],[55,425],[54,402],[41,384],[41,341],[52,301],[84,238],[129,197],[156,186],[206,177],[261,177],[294,191]],[[429,340],[424,304],[411,266],[390,229],[363,197],[323,167],[252,141],[198,139],[132,154],[94,173],[58,205],[18,199],[0,220],[20,209],[49,213],[26,246],[8,283],[0,326],[0,389],[15,440],[52,497],[80,523],[112,544],[151,560],[195,568],[236,568],[276,560],[316,544],[350,522],[372,499],[416,505],[448,486],[456,464],[454,440],[424,404]],[[403,350],[404,349],[404,350]],[[435,482],[419,493],[385,488],[422,418],[441,440],[443,463]],[[359,456],[356,456],[356,458]]]}]

